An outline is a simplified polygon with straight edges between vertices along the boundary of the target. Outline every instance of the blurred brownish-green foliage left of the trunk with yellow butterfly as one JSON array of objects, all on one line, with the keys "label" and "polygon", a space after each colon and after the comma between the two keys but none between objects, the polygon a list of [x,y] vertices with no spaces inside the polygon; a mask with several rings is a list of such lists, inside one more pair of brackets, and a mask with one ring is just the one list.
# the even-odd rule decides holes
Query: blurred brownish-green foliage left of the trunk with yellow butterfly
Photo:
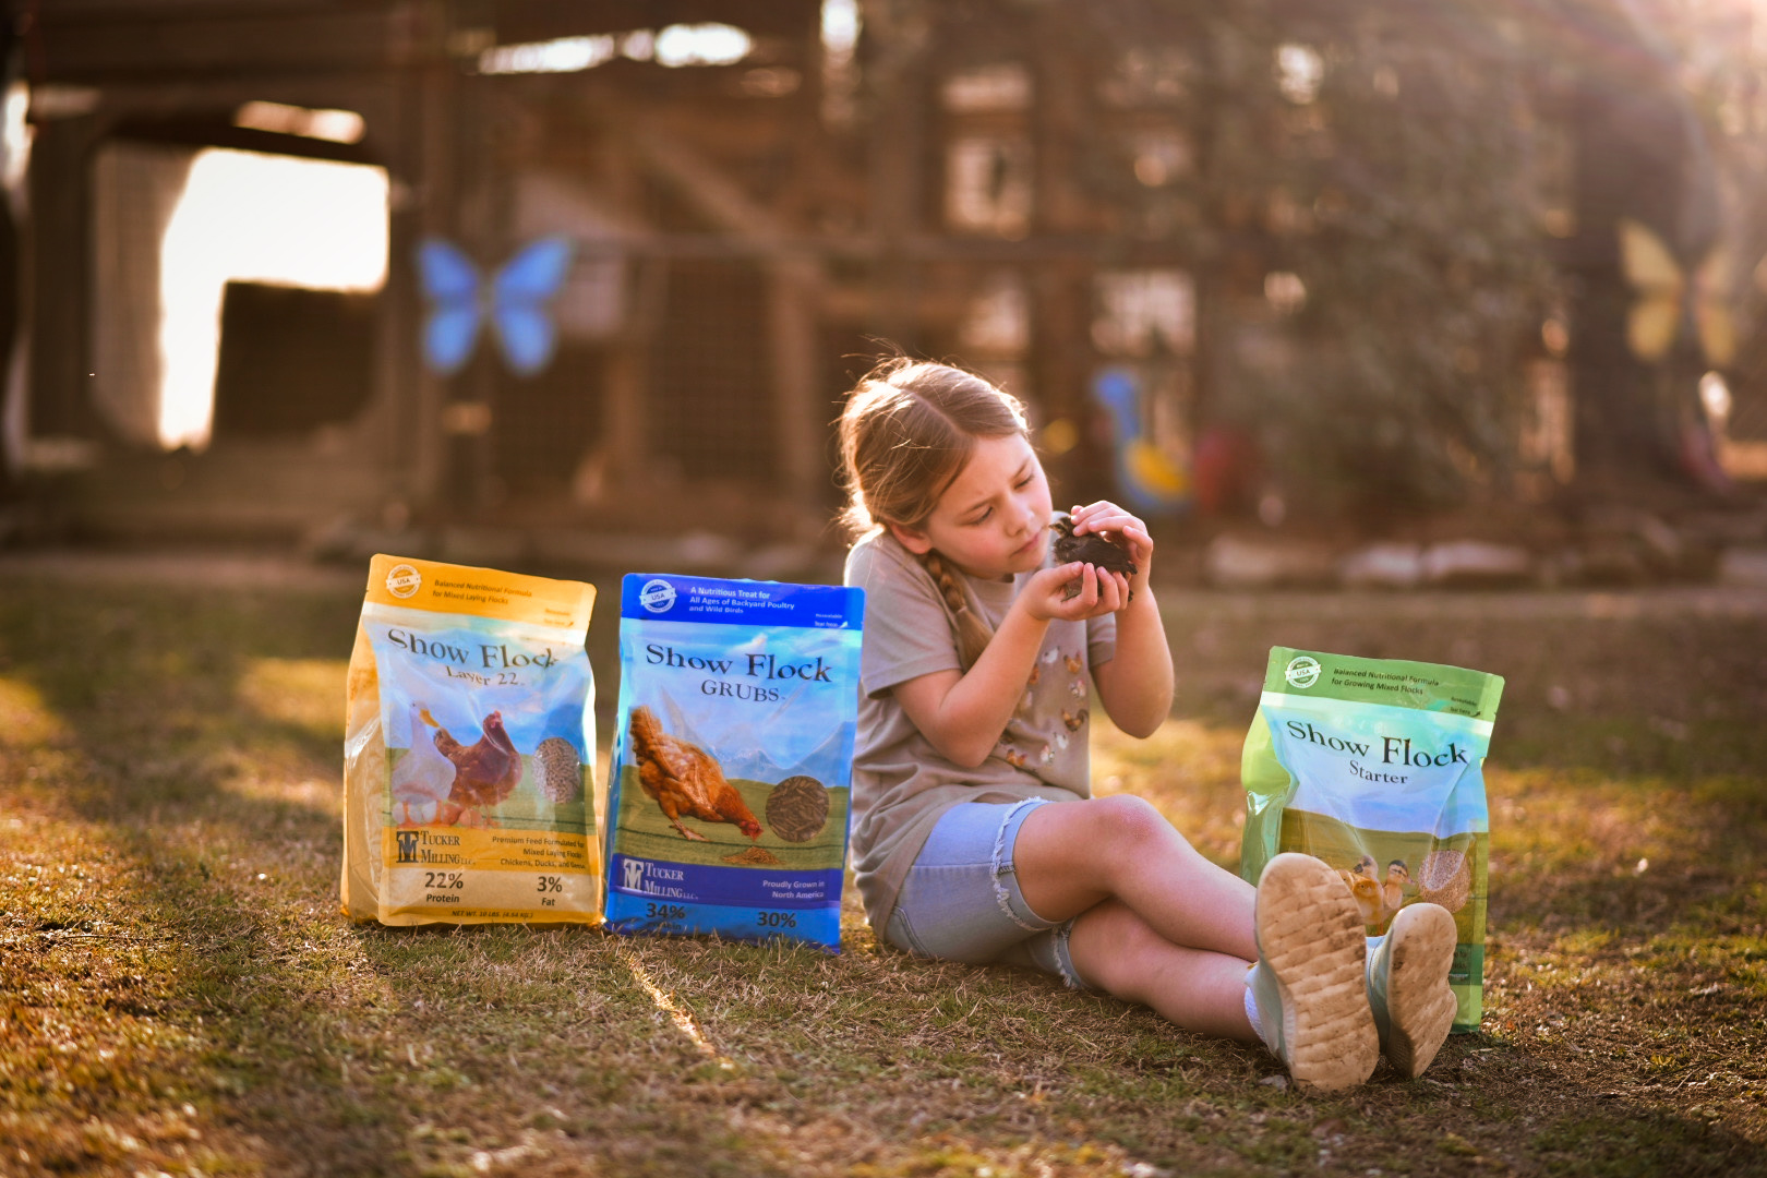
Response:
[{"label": "blurred brownish-green foliage left of the trunk with yellow butterfly", "polygon": [[1087,178],[1194,249],[1203,417],[1260,422],[1270,468],[1320,505],[1444,505],[1502,473],[1557,297],[1539,191],[1557,161],[1514,30],[1483,5],[1088,18],[1115,25],[1119,72],[1184,46],[1194,166],[1147,185],[1097,159]]}]

